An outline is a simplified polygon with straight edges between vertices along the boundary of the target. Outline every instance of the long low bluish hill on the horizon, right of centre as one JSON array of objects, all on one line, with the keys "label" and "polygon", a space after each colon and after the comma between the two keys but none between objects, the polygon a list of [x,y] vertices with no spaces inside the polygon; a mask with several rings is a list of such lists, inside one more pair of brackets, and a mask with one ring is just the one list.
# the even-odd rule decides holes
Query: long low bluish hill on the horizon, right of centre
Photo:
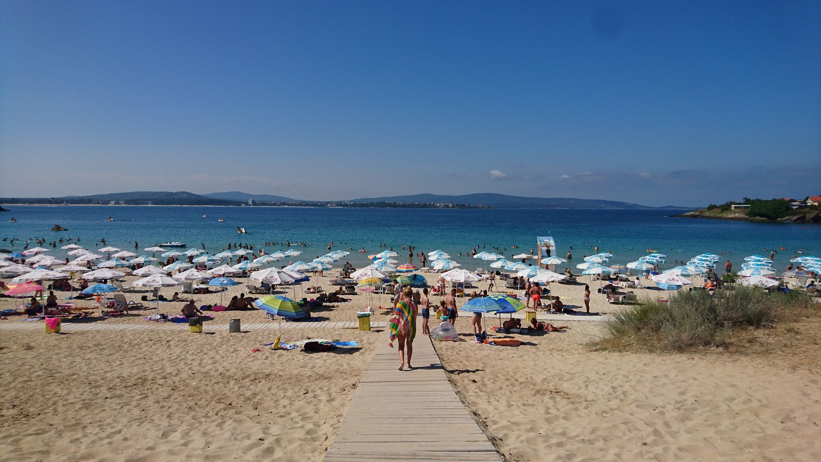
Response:
[{"label": "long low bluish hill on the horizon, right of centre", "polygon": [[392,197],[369,197],[364,199],[353,199],[351,202],[449,202],[452,204],[470,204],[485,207],[496,207],[499,209],[658,209],[658,208],[681,208],[687,207],[650,207],[630,202],[602,201],[599,199],[574,199],[572,197],[523,197],[507,196],[506,194],[495,194],[492,192],[466,194],[463,196],[443,196],[437,194],[414,194],[412,196],[392,196]]}]

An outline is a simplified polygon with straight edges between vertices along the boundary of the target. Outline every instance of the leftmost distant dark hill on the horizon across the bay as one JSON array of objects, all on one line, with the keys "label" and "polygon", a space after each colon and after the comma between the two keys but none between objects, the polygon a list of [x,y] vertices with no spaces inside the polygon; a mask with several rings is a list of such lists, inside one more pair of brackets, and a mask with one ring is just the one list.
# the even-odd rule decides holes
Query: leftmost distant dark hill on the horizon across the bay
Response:
[{"label": "leftmost distant dark hill on the horizon across the bay", "polygon": [[123,201],[129,206],[239,206],[240,201],[227,201],[200,196],[193,192],[167,191],[136,191],[111,192],[108,194],[94,194],[93,196],[62,196],[62,197],[2,197],[4,204],[108,204],[110,201]]}]

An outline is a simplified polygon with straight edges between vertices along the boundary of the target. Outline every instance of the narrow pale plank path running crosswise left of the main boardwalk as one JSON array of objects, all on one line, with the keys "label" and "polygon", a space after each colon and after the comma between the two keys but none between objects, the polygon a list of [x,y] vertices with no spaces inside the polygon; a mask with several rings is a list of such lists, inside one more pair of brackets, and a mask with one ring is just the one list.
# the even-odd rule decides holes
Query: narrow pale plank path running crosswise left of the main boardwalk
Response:
[{"label": "narrow pale plank path running crosswise left of the main boardwalk", "polygon": [[[388,327],[388,321],[371,321],[371,329]],[[358,329],[359,323],[356,321],[318,321],[318,322],[283,322],[282,330],[287,329]],[[279,323],[273,322],[258,322],[251,324],[242,324],[243,332],[253,330],[278,330]],[[18,322],[0,322],[0,330],[45,330],[43,321],[18,321]],[[86,332],[92,330],[140,330],[141,332],[149,332],[154,330],[188,330],[188,324],[176,322],[149,322],[143,324],[106,324],[105,321],[99,322],[71,322],[63,321],[60,326],[61,332]],[[216,332],[220,330],[228,330],[227,324],[211,324],[205,321],[203,325],[203,332]]]}]

